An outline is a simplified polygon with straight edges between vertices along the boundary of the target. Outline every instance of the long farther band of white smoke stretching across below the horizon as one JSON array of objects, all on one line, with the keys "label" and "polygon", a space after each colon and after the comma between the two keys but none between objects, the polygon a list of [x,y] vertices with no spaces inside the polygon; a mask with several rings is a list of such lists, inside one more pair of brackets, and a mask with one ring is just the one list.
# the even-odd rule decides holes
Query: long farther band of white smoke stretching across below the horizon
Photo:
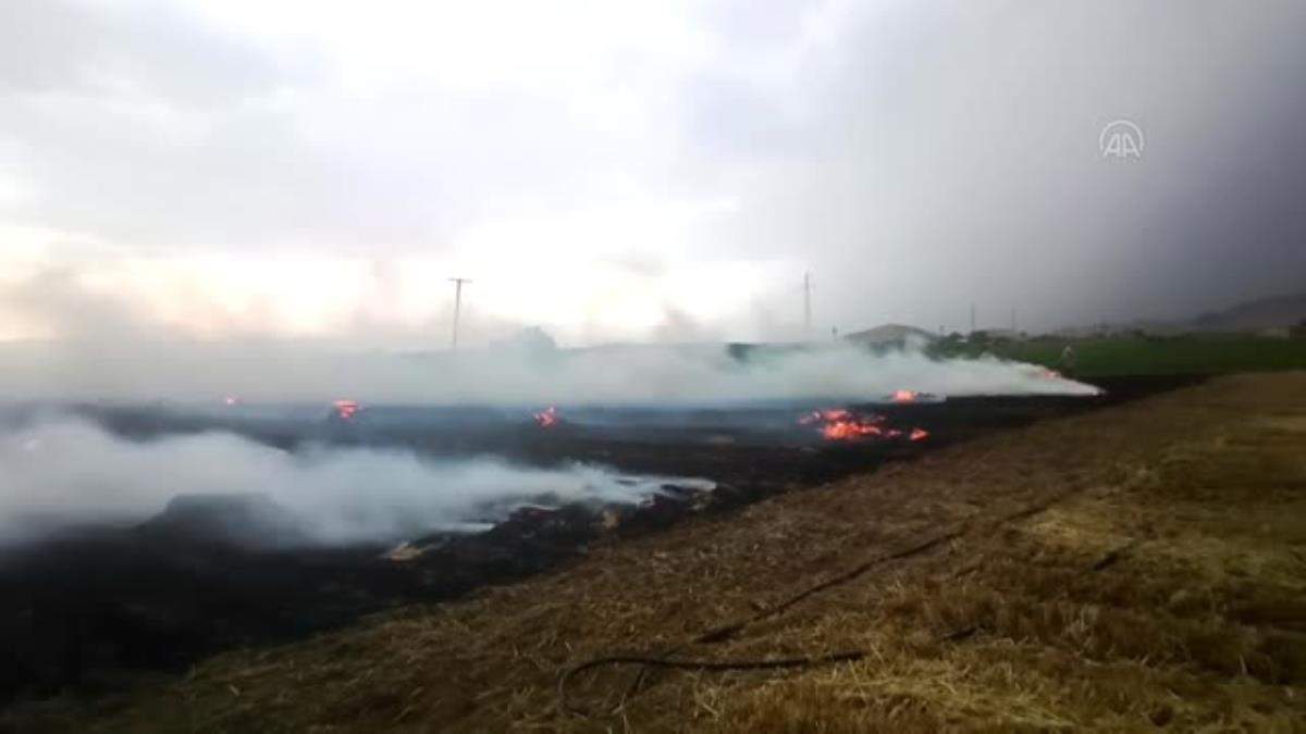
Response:
[{"label": "long farther band of white smoke stretching across below the horizon", "polygon": [[289,343],[29,346],[0,354],[12,398],[159,398],[210,402],[682,404],[802,398],[874,400],[899,389],[942,396],[1092,394],[1094,388],[995,358],[874,355],[850,345],[725,345],[556,350],[512,345],[458,354],[328,351]]}]

